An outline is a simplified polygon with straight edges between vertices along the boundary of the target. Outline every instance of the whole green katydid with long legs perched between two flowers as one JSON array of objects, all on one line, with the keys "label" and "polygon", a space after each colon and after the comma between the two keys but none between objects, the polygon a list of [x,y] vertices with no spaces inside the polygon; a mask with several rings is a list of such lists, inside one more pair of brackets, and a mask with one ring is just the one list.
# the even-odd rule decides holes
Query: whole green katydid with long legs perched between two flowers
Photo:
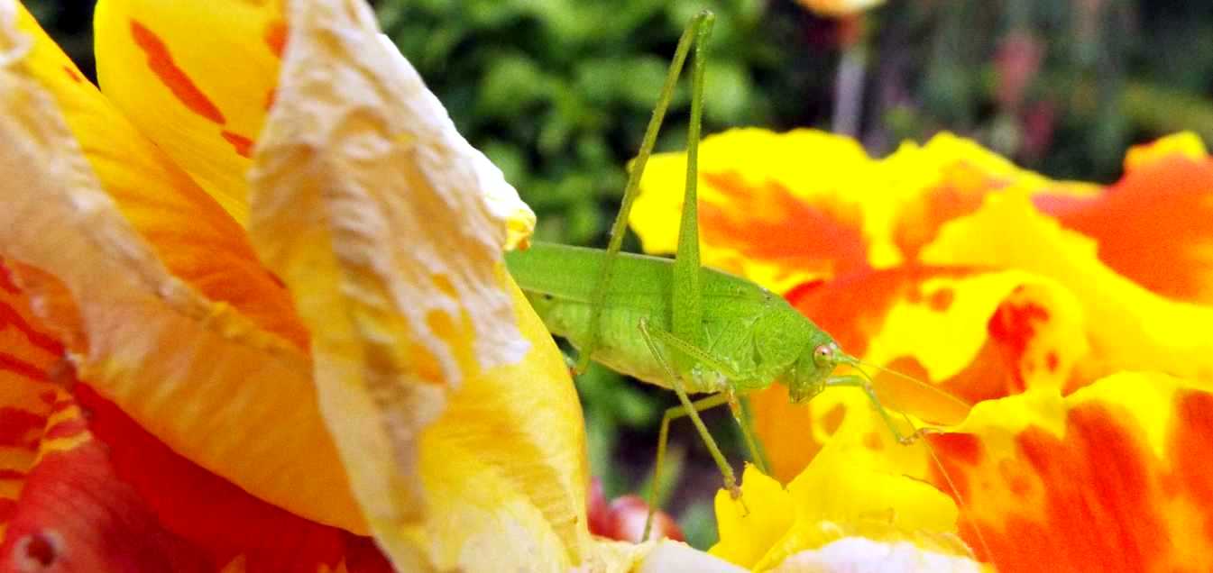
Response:
[{"label": "whole green katydid with long legs perched between two flowers", "polygon": [[[899,442],[913,441],[921,430],[899,429],[877,397],[871,378],[858,368],[859,360],[843,353],[828,333],[781,297],[745,279],[700,265],[697,149],[704,52],[713,19],[711,12],[699,13],[678,42],[628,174],[606,250],[536,242],[526,251],[507,253],[506,263],[548,330],[577,348],[579,374],[590,360],[596,360],[678,395],[680,406],[667,409],[661,422],[654,483],[660,482],[670,423],[689,417],[719,466],[725,488],[738,498],[740,489],[733,468],[699,412],[729,405],[751,458],[765,471],[741,416],[740,397],[747,392],[780,383],[787,386],[792,402],[802,403],[827,388],[858,388],[866,392]],[[691,119],[678,251],[673,260],[622,253],[620,246],[640,176],[691,46],[695,50]],[[858,373],[836,373],[842,365],[855,367]],[[708,396],[693,401],[691,394]],[[654,505],[650,503],[650,511]],[[649,525],[644,538],[648,532]]]}]

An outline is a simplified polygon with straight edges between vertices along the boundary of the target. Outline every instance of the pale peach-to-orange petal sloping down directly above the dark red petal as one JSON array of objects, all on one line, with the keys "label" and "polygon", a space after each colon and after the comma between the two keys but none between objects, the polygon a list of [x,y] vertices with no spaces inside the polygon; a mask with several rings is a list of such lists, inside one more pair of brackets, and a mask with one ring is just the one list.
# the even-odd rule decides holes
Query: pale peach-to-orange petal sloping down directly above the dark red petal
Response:
[{"label": "pale peach-to-orange petal sloping down directly above the dark red petal", "polygon": [[30,282],[44,323],[76,340],[81,378],[173,449],[298,515],[363,531],[308,356],[159,262],[28,70],[32,41],[13,17],[0,10],[0,170],[18,182],[4,187],[0,254],[62,281]]}]

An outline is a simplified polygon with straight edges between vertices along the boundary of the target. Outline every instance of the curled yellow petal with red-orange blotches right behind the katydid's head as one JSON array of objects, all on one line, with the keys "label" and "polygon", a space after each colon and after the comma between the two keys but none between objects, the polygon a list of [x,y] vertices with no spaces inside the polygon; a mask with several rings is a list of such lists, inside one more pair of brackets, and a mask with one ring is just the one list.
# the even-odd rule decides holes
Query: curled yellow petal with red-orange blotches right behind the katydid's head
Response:
[{"label": "curled yellow petal with red-orange blotches right behind the katydid's head", "polygon": [[[885,406],[933,424],[958,423],[981,400],[1065,388],[1088,355],[1077,300],[1021,271],[901,267],[807,285],[787,297],[848,353],[919,380],[867,368]],[[871,405],[855,390],[831,390],[798,406],[776,386],[752,403],[757,432],[782,480],[796,476],[852,413],[871,418]],[[870,431],[888,429],[877,424]]]}]

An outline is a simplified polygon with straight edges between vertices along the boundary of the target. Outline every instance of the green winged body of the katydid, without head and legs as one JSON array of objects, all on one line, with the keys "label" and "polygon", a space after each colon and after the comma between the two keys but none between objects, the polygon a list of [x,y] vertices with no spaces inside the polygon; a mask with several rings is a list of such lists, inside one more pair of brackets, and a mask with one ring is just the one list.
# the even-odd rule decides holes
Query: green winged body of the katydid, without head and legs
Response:
[{"label": "green winged body of the katydid, without head and legs", "polygon": [[[535,243],[526,251],[507,253],[506,263],[548,330],[580,350],[587,339],[591,300],[606,257],[600,250]],[[653,330],[671,331],[673,262],[631,253],[616,257],[591,357],[616,372],[671,388],[639,325],[644,320]],[[721,372],[695,363],[683,372],[688,391],[765,388],[775,378],[791,374],[805,346],[831,342],[765,288],[712,269],[700,273],[700,348],[735,376],[725,379]]]}]

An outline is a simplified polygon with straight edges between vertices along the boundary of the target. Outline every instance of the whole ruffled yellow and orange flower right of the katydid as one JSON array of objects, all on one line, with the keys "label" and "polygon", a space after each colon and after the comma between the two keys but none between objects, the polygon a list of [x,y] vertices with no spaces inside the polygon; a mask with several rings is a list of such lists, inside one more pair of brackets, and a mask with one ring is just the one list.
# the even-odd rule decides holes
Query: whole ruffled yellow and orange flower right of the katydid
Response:
[{"label": "whole ruffled yellow and orange flower right of the katydid", "polygon": [[[705,264],[784,294],[865,362],[926,380],[876,376],[887,403],[945,430],[899,447],[860,392],[808,407],[780,386],[757,394],[773,474],[790,483],[752,497],[793,502],[738,527],[719,499],[713,552],[771,567],[820,550],[833,539],[821,525],[859,510],[884,511],[876,521],[921,551],[955,550],[939,535],[958,534],[1006,571],[1213,567],[1213,470],[1194,462],[1213,453],[1200,437],[1213,420],[1213,159],[1195,136],[1134,148],[1107,187],[947,133],[873,159],[843,137],[735,130],[700,157]],[[684,168],[679,154],[649,162],[632,214],[649,252],[673,251]],[[821,475],[843,481],[818,494],[852,502],[797,502]],[[890,487],[905,497],[873,497]],[[949,503],[924,510],[939,494]]]}]

